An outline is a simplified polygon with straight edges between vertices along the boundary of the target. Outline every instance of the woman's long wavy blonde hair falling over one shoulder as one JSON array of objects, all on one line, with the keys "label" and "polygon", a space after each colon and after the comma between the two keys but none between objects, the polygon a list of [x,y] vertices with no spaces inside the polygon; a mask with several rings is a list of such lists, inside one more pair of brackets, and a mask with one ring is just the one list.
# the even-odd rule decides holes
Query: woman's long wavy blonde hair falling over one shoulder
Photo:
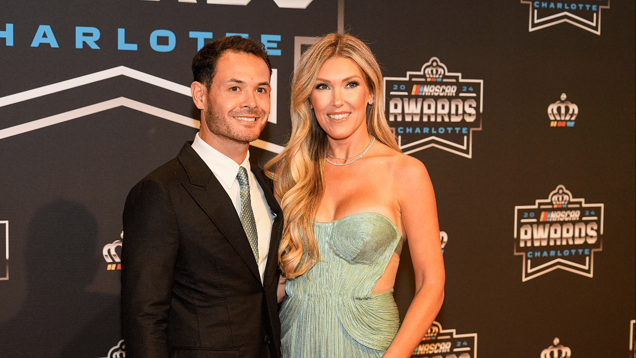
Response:
[{"label": "woman's long wavy blonde hair falling over one shoulder", "polygon": [[[384,83],[373,53],[350,34],[328,34],[300,57],[291,84],[291,137],[287,147],[265,165],[282,198],[285,216],[279,264],[287,278],[301,276],[320,260],[314,218],[324,193],[327,134],[310,106],[310,94],[322,64],[333,57],[356,62],[375,103],[367,106],[367,129],[378,141],[401,152],[384,114]],[[273,170],[272,170],[273,169]]]}]

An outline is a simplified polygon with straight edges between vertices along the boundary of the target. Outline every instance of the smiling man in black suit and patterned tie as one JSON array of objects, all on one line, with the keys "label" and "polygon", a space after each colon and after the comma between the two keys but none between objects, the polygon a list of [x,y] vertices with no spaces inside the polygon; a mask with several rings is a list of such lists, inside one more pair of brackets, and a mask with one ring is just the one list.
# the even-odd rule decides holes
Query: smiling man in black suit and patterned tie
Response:
[{"label": "smiling man in black suit and patterned tie", "polygon": [[127,356],[278,358],[282,211],[248,152],[269,115],[272,66],[231,36],[203,47],[192,71],[201,129],[123,212]]}]

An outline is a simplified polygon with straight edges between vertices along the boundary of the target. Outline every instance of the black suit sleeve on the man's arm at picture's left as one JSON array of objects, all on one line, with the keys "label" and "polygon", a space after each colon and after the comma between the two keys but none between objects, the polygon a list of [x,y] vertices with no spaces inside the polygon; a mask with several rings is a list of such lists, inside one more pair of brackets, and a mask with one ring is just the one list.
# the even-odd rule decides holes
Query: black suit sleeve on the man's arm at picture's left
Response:
[{"label": "black suit sleeve on the man's arm at picture's left", "polygon": [[129,358],[168,356],[167,323],[179,248],[167,189],[143,180],[123,211],[121,325]]}]

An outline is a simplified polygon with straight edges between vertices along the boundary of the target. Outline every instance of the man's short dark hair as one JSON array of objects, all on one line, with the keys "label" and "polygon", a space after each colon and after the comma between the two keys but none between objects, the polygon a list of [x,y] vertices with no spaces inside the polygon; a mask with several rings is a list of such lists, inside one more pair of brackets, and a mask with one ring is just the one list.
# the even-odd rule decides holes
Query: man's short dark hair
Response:
[{"label": "man's short dark hair", "polygon": [[239,35],[220,38],[205,45],[192,59],[192,74],[196,82],[203,83],[208,89],[212,85],[212,78],[216,75],[216,62],[225,52],[238,52],[252,54],[261,57],[270,69],[272,75],[272,63],[263,45],[243,38]]}]

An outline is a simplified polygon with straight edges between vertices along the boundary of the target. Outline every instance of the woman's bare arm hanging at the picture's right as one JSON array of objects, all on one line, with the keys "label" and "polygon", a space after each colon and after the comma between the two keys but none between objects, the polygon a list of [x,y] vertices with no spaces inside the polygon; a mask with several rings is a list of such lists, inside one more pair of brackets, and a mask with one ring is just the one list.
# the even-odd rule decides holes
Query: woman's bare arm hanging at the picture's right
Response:
[{"label": "woman's bare arm hanging at the picture's right", "polygon": [[412,157],[401,159],[404,162],[396,171],[396,190],[415,270],[415,297],[384,358],[410,357],[444,300],[444,261],[431,179],[422,162]]}]

